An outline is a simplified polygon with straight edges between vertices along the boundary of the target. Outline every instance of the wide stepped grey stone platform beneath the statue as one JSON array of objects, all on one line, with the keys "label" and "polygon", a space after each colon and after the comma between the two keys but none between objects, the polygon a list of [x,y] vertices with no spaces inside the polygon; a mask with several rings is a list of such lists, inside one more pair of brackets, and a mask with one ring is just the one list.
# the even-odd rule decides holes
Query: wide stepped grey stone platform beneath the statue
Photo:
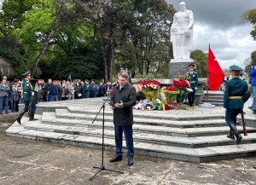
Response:
[{"label": "wide stepped grey stone platform beneath the statue", "polygon": [[[21,125],[12,124],[6,133],[46,142],[80,147],[102,148],[102,112],[96,117],[102,98],[38,103],[36,118]],[[251,101],[250,101],[251,102]],[[21,108],[22,106],[20,106]],[[246,105],[247,107],[247,105]],[[248,136],[240,145],[226,137],[229,127],[224,121],[224,108],[194,111],[170,110],[141,112],[134,110],[133,136],[135,154],[195,163],[256,156],[254,114],[247,113]],[[238,130],[242,131],[238,123]],[[113,112],[106,103],[105,149],[115,150]],[[125,147],[125,141],[124,141]]]}]

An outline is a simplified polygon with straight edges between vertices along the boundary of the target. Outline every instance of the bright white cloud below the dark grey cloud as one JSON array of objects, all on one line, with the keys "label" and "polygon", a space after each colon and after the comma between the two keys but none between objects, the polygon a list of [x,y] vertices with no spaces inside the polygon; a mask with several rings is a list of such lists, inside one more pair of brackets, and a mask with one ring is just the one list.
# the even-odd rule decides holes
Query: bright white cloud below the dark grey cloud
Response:
[{"label": "bright white cloud below the dark grey cloud", "polygon": [[201,49],[208,53],[208,45],[218,58],[222,68],[235,64],[244,67],[243,62],[256,49],[256,42],[250,36],[250,25],[237,25],[226,30],[213,29],[206,24],[195,24],[193,49]]}]

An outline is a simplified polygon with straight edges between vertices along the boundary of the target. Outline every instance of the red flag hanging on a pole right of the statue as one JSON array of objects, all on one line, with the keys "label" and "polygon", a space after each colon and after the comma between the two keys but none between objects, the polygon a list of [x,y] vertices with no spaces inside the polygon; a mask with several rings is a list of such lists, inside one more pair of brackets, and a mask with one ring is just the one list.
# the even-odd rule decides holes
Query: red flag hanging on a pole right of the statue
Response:
[{"label": "red flag hanging on a pole right of the statue", "polygon": [[225,74],[218,64],[215,55],[212,53],[212,49],[209,47],[208,54],[208,72],[209,76],[209,88],[210,90],[218,90],[220,84],[222,84]]}]

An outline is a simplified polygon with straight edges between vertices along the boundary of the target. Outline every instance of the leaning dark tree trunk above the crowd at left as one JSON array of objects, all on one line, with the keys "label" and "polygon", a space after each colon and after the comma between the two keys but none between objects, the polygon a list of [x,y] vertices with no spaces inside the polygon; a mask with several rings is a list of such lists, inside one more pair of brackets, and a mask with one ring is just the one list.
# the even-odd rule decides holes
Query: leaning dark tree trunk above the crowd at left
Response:
[{"label": "leaning dark tree trunk above the crowd at left", "polygon": [[38,57],[37,57],[36,61],[34,62],[33,66],[32,66],[31,78],[34,77],[34,74],[35,74],[35,72],[37,70],[37,67],[38,67],[38,63],[41,60],[42,56],[44,55],[44,51],[47,49],[47,46],[49,44],[49,39],[50,39],[50,37],[52,35],[52,32],[53,32],[53,30],[55,28],[57,20],[59,19],[60,15],[61,15],[61,10],[62,9],[63,9],[63,4],[61,3],[61,7],[60,7],[59,11],[56,14],[55,20],[53,21],[53,23],[51,24],[51,26],[49,28],[49,32],[48,32],[47,37],[45,38],[43,49],[38,54]]}]

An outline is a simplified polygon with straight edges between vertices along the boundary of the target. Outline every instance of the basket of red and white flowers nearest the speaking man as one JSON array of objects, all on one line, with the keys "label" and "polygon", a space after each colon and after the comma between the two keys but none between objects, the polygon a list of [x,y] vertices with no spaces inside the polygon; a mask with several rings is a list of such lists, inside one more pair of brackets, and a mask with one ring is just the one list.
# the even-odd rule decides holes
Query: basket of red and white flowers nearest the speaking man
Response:
[{"label": "basket of red and white flowers nearest the speaking man", "polygon": [[140,81],[137,84],[142,85],[143,94],[146,99],[152,101],[157,98],[158,90],[160,89],[160,82],[157,80],[144,80]]}]

